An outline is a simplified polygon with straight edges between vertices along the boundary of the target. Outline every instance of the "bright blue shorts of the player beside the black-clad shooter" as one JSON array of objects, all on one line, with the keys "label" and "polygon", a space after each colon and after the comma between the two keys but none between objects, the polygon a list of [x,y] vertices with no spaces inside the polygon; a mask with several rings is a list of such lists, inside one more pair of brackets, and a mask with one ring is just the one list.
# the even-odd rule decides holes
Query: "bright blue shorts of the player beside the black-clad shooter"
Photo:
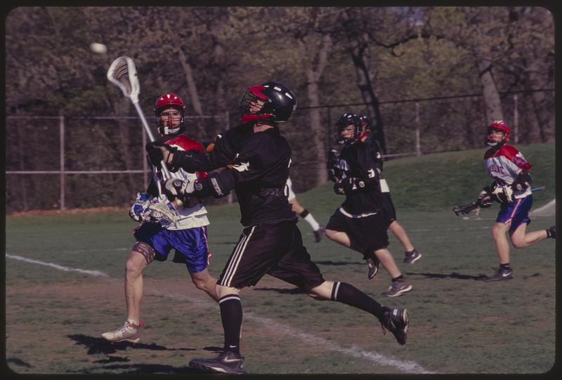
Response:
[{"label": "bright blue shorts of the player beside the black-clad shooter", "polygon": [[207,226],[166,230],[158,223],[143,223],[133,231],[133,235],[138,242],[145,242],[154,248],[155,260],[165,261],[174,248],[176,253],[181,254],[183,263],[190,272],[198,273],[207,268]]}]

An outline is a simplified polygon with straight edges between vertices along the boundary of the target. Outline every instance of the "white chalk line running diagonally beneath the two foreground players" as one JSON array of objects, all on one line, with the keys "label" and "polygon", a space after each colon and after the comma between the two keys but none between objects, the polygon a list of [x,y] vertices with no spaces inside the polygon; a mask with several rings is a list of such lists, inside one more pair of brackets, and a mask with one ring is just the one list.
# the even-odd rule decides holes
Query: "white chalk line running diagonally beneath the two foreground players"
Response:
[{"label": "white chalk line running diagonally beneath the two foreground players", "polygon": [[[6,254],[7,258],[14,258],[15,260],[20,260],[20,261],[25,261],[27,263],[34,263],[34,264],[39,264],[42,266],[50,266],[51,268],[55,268],[58,270],[64,270],[65,272],[79,272],[79,273],[85,273],[87,275],[93,275],[93,276],[97,276],[97,277],[109,277],[111,278],[109,275],[100,272],[99,270],[84,270],[84,269],[79,269],[79,268],[67,268],[65,266],[59,266],[57,264],[53,264],[53,263],[45,263],[44,261],[39,261],[39,260],[32,260],[31,258],[25,258],[22,256],[17,256],[17,255],[11,255],[11,254]],[[166,296],[169,298],[173,298],[173,299],[179,299],[182,301],[188,301],[190,303],[194,303],[200,306],[207,306],[209,308],[213,307],[216,308],[216,303],[208,301],[208,300],[203,300],[203,299],[194,299],[192,297],[188,297],[188,296],[184,296],[183,294],[178,294],[178,293],[162,293],[161,291],[157,291],[157,290],[150,290],[150,289],[146,289],[145,293],[147,294],[154,294],[157,296]],[[299,339],[301,339],[302,341],[304,341],[307,344],[312,344],[313,346],[322,346],[323,348],[328,348],[329,350],[332,351],[336,351],[336,352],[340,352],[340,353],[346,353],[347,355],[351,355],[355,358],[363,358],[363,359],[367,359],[367,360],[371,360],[372,362],[376,362],[379,365],[386,365],[388,367],[395,367],[397,369],[400,369],[400,371],[403,371],[405,373],[413,373],[413,374],[435,374],[436,372],[431,372],[428,371],[427,369],[424,369],[424,367],[421,367],[420,365],[418,365],[416,362],[412,362],[412,361],[406,361],[406,360],[396,360],[396,359],[392,359],[392,358],[387,358],[384,355],[381,355],[379,353],[375,353],[375,352],[368,352],[365,350],[362,350],[361,348],[358,348],[356,346],[351,346],[351,347],[342,347],[339,346],[338,344],[332,342],[332,341],[327,341],[326,339],[322,339],[322,338],[318,338],[317,336],[313,336],[312,334],[307,334],[305,332],[299,332],[296,329],[293,329],[292,327],[286,326],[286,325],[282,325],[278,322],[276,322],[275,320],[270,320],[269,318],[264,318],[264,317],[259,317],[258,315],[255,315],[254,313],[244,313],[244,317],[248,318],[249,320],[254,320],[256,322],[260,322],[261,324],[263,324],[264,326],[266,326],[268,329],[272,329],[275,332],[284,332],[285,334],[287,334],[288,336],[294,336],[297,337]],[[391,334],[390,332],[388,332],[388,334]],[[390,337],[388,337],[390,338]],[[393,339],[393,338],[391,338]]]}]

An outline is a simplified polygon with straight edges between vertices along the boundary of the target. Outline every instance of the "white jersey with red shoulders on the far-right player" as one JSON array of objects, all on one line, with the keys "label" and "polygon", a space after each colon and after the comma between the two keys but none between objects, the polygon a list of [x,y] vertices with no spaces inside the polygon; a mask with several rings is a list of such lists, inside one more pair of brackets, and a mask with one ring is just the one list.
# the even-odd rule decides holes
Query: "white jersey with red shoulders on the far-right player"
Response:
[{"label": "white jersey with red shoulders on the far-right player", "polygon": [[[523,169],[530,169],[531,164],[525,157],[511,145],[502,145],[499,149],[491,148],[484,154],[484,165],[490,177],[494,178],[499,185],[511,185]],[[514,198],[524,198],[531,194],[531,188],[527,187],[514,191]]]}]

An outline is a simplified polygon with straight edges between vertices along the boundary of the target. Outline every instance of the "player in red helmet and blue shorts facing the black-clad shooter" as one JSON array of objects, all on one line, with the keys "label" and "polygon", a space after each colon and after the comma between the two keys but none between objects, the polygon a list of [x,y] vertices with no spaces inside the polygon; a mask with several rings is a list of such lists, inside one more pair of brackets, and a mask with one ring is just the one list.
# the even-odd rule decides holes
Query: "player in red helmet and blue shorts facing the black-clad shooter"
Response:
[{"label": "player in red helmet and blue shorts facing the black-clad shooter", "polygon": [[[205,291],[217,301],[216,278],[209,274],[209,247],[207,246],[207,210],[197,198],[185,204],[172,204],[162,193],[164,161],[173,178],[192,181],[207,176],[210,166],[203,155],[203,147],[183,134],[185,104],[174,93],[164,93],[155,103],[158,132],[164,143],[149,143],[146,147],[152,164],[152,181],[146,193],[138,193],[129,215],[141,223],[134,230],[136,242],[126,262],[125,300],[127,319],[123,327],[102,334],[107,341],[140,341],[141,299],[143,298],[143,269],[152,261],[165,261],[171,249],[175,249],[173,261],[185,263],[197,289]],[[166,144],[166,145],[164,145]],[[188,153],[190,168],[180,167],[173,153]],[[167,179],[167,178],[164,178]],[[164,204],[164,212],[162,211]],[[160,211],[158,211],[160,210]]]}]

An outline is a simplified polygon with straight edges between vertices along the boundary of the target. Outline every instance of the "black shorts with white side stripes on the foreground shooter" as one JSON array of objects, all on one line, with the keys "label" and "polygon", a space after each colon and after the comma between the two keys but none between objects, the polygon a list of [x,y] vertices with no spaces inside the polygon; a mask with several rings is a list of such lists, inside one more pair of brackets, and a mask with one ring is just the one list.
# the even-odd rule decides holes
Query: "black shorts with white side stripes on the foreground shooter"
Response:
[{"label": "black shorts with white side stripes on the foreground shooter", "polygon": [[244,228],[218,284],[242,289],[266,274],[305,290],[325,281],[303,246],[296,220]]}]

